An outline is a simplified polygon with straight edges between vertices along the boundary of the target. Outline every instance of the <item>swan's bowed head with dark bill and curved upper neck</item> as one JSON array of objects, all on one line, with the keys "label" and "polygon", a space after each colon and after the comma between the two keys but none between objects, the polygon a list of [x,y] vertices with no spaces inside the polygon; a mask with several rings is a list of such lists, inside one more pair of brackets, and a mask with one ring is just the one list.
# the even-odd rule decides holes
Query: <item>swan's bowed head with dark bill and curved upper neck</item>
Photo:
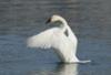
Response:
[{"label": "swan's bowed head with dark bill and curved upper neck", "polygon": [[64,20],[61,15],[58,15],[58,14],[52,15],[52,17],[47,21],[47,23],[53,23],[53,22],[67,23],[65,20]]}]

